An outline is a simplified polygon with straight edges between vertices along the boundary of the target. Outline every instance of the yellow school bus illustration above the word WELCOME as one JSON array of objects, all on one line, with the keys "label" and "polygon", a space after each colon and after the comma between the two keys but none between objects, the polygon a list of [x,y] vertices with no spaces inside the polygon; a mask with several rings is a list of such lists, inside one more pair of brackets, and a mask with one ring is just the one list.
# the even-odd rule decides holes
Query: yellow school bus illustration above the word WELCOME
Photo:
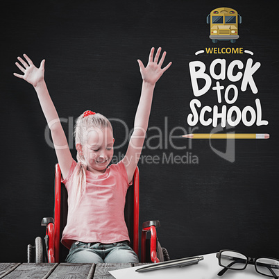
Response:
[{"label": "yellow school bus illustration above the word WELCOME", "polygon": [[242,17],[231,8],[216,8],[210,12],[206,22],[210,24],[210,39],[212,42],[235,42],[239,38],[238,24]]}]

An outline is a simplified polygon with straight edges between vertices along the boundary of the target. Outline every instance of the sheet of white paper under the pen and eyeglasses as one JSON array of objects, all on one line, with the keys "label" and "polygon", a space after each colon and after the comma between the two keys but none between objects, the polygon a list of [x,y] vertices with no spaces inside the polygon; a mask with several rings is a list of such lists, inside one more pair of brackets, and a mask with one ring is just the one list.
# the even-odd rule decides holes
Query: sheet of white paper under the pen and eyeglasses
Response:
[{"label": "sheet of white paper under the pen and eyeglasses", "polygon": [[[248,264],[246,269],[242,271],[228,270],[223,276],[218,276],[217,273],[223,269],[218,264],[216,253],[203,255],[204,260],[198,264],[192,264],[187,267],[171,267],[169,269],[159,269],[155,271],[137,272],[140,267],[130,267],[128,269],[118,269],[109,271],[116,279],[263,279],[262,276],[252,264]],[[147,266],[147,264],[146,264]],[[143,266],[141,266],[143,267]],[[144,266],[145,267],[145,266]]]}]

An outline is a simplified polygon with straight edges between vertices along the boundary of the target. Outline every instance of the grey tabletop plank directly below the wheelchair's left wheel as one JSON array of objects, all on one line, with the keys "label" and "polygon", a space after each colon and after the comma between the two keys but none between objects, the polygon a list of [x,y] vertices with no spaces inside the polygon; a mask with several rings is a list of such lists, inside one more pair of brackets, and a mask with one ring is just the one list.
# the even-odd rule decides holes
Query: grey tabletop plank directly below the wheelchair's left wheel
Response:
[{"label": "grey tabletop plank directly below the wheelchair's left wheel", "polygon": [[17,269],[14,271],[8,273],[7,276],[5,276],[5,279],[18,279],[18,278],[32,278],[32,279],[42,279],[44,276],[47,276],[49,271],[54,269],[57,266],[57,264],[20,264]]}]

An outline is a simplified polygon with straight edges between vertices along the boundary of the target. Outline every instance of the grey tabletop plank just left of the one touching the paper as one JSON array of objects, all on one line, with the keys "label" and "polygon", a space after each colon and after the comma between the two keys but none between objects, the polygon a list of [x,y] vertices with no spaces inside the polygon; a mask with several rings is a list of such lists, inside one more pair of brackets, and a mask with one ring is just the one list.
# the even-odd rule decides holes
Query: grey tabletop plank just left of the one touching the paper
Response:
[{"label": "grey tabletop plank just left of the one touching the paper", "polygon": [[51,273],[48,279],[91,279],[93,278],[94,269],[95,264],[73,264],[63,262]]}]

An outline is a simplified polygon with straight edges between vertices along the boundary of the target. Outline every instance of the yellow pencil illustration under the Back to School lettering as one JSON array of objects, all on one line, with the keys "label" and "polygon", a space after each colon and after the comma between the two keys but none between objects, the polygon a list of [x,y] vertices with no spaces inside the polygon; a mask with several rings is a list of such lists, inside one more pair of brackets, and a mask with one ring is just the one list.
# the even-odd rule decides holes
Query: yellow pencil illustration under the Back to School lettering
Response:
[{"label": "yellow pencil illustration under the Back to School lettering", "polygon": [[189,139],[269,139],[269,134],[237,134],[237,133],[216,133],[216,134],[188,134],[182,135]]}]

